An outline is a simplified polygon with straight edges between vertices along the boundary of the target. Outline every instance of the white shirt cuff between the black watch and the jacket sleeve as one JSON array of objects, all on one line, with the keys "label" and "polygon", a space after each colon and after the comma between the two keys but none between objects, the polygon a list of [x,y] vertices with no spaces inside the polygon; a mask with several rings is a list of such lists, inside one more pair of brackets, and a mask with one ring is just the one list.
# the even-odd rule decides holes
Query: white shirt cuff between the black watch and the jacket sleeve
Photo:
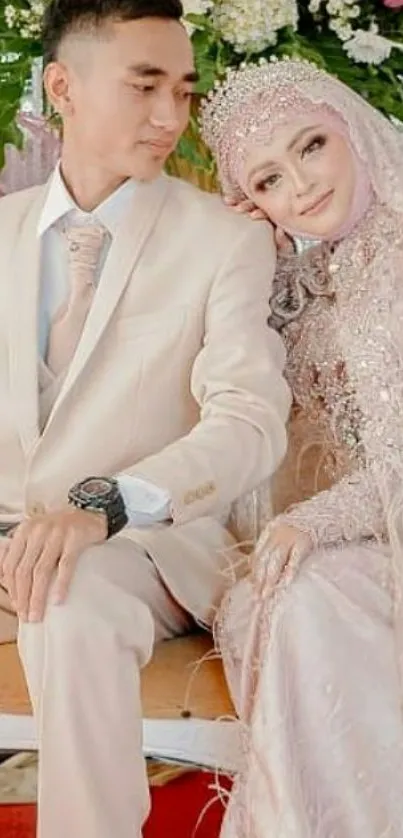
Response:
[{"label": "white shirt cuff between the black watch and the jacket sleeve", "polygon": [[129,519],[127,526],[151,527],[171,520],[171,498],[164,489],[128,474],[117,480]]}]

